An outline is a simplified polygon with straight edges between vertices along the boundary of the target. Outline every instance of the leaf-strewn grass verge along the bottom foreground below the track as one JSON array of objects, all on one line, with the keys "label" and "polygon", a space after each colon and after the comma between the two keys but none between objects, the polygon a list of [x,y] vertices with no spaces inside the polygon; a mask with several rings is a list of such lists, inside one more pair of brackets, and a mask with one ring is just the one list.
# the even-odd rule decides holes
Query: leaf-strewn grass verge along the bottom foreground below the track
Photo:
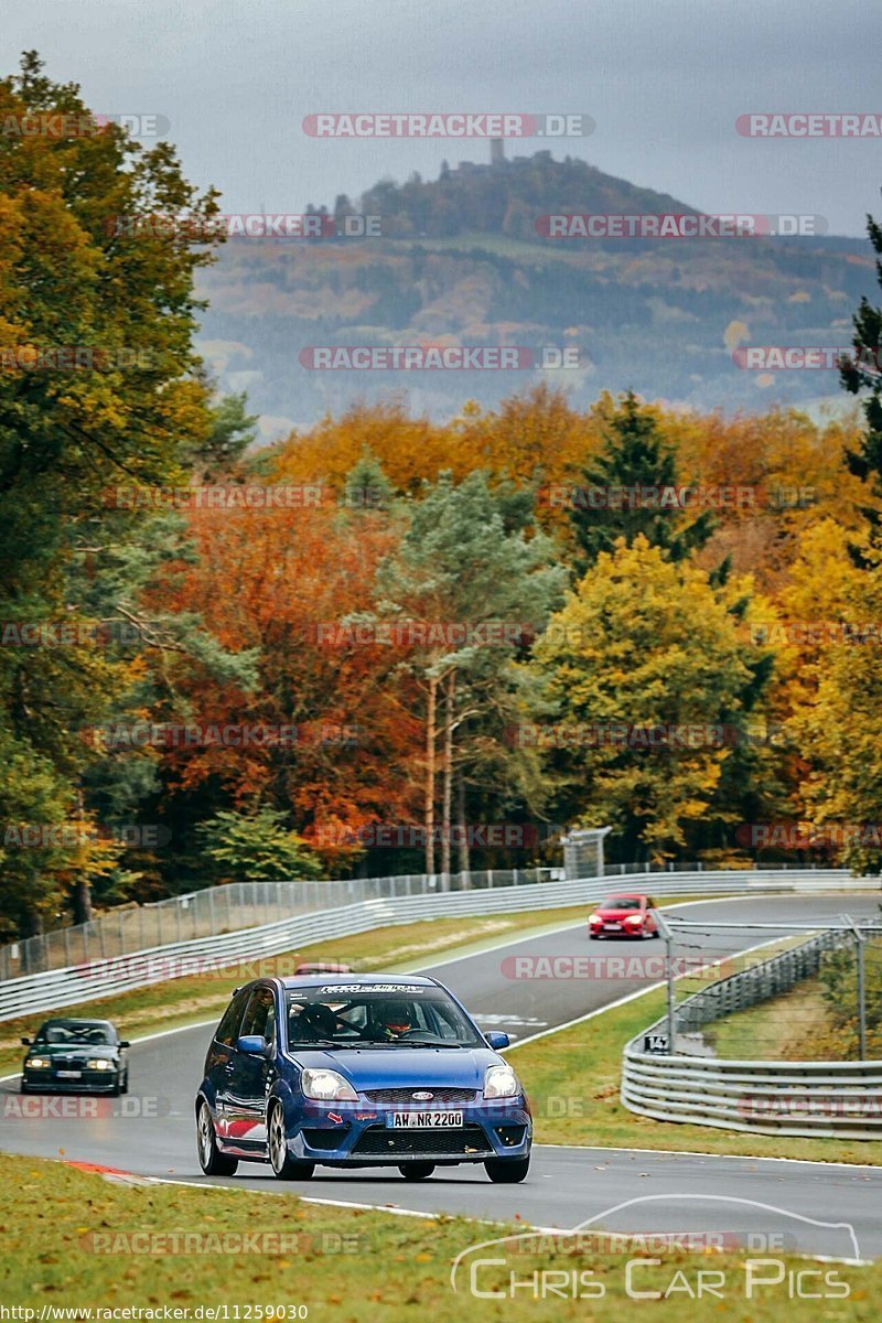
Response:
[{"label": "leaf-strewn grass verge along the bottom foreground below the track", "polygon": [[[226,1307],[216,1315],[222,1320],[266,1320],[272,1316],[268,1310],[284,1307],[284,1315],[275,1312],[275,1318],[305,1316],[309,1323],[398,1323],[426,1316],[434,1323],[463,1318],[625,1323],[635,1318],[635,1299],[625,1294],[625,1263],[632,1258],[647,1259],[636,1265],[632,1290],[664,1293],[672,1287],[666,1301],[649,1304],[656,1307],[653,1314],[659,1307],[665,1318],[676,1314],[677,1323],[705,1323],[709,1310],[714,1318],[723,1311],[725,1318],[744,1323],[779,1323],[784,1318],[863,1323],[878,1316],[882,1267],[874,1265],[821,1265],[828,1281],[844,1283],[848,1295],[822,1299],[819,1308],[817,1298],[793,1299],[789,1294],[787,1270],[808,1267],[793,1256],[780,1256],[780,1283],[746,1299],[747,1265],[731,1252],[709,1257],[664,1250],[649,1257],[647,1249],[596,1253],[583,1246],[573,1254],[555,1253],[546,1241],[536,1246],[537,1253],[484,1252],[504,1262],[483,1267],[476,1286],[500,1294],[475,1298],[467,1275],[458,1278],[459,1293],[454,1293],[452,1261],[496,1234],[521,1233],[522,1222],[497,1229],[461,1217],[427,1221],[308,1205],[291,1193],[111,1184],[94,1172],[33,1158],[0,1156],[0,1299],[7,1308],[33,1310],[32,1319],[49,1320],[53,1308],[67,1311],[57,1315],[61,1318],[89,1319],[86,1311],[97,1307],[160,1311],[141,1318],[163,1318],[169,1307],[180,1312],[168,1316],[196,1319],[201,1306]],[[512,1193],[514,1209],[517,1189]],[[182,1237],[194,1233],[206,1237],[202,1244],[213,1249],[180,1253],[188,1244]],[[283,1242],[278,1241],[282,1236]],[[521,1250],[524,1245],[520,1242]],[[701,1270],[722,1274],[718,1298],[690,1298]],[[549,1278],[533,1278],[534,1271],[555,1273],[554,1293],[537,1295],[536,1286],[545,1291]],[[763,1271],[772,1275],[768,1267]],[[518,1283],[533,1282],[534,1289],[521,1285],[512,1295],[509,1274]],[[567,1298],[574,1279],[583,1298]],[[821,1294],[828,1287],[813,1277],[811,1290]],[[305,1307],[305,1315],[288,1312],[298,1306]],[[28,1315],[8,1316],[28,1323]]]}]

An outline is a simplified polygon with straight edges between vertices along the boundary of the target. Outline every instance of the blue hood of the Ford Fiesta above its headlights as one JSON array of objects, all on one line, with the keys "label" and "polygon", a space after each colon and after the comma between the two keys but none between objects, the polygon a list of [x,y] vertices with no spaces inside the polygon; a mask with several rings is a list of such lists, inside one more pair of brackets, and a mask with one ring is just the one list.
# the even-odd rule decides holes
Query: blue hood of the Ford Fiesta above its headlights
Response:
[{"label": "blue hood of the Ford Fiesta above its headlights", "polygon": [[491,1048],[345,1048],[341,1052],[298,1049],[299,1066],[336,1070],[358,1091],[365,1089],[483,1089],[488,1066],[502,1065]]}]

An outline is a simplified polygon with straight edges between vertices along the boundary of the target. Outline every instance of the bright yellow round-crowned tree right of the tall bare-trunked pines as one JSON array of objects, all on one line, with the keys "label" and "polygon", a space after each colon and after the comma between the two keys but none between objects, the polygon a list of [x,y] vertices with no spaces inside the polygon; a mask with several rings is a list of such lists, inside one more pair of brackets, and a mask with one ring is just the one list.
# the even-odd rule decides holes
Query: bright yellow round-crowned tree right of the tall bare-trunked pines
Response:
[{"label": "bright yellow round-crowned tree right of the tall bare-trunked pines", "polygon": [[579,824],[611,826],[633,857],[672,857],[696,823],[737,820],[719,798],[722,732],[763,680],[731,607],[707,573],[639,533],[598,554],[536,646]]}]

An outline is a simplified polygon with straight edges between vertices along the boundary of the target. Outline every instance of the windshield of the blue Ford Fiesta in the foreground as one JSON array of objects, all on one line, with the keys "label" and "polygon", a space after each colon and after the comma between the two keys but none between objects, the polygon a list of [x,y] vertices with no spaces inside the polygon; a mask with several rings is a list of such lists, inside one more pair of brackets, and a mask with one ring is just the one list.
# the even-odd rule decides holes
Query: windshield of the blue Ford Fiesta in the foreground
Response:
[{"label": "windshield of the blue Ford Fiesta in the foreground", "polygon": [[438,987],[366,984],[288,994],[290,1046],[485,1046]]}]

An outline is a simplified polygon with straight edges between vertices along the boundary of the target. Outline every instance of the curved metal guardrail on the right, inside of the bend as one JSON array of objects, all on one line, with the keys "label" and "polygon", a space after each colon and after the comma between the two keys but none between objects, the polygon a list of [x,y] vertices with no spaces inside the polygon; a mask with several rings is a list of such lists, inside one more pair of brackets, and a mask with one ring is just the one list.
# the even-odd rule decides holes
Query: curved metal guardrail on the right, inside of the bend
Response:
[{"label": "curved metal guardrail on the right, inside of the bend", "polygon": [[[789,991],[817,974],[825,951],[853,942],[848,930],[821,933],[711,983],[674,1009],[674,1044],[678,1035]],[[741,1061],[643,1049],[647,1037],[666,1032],[662,1016],[624,1048],[621,1102],[629,1111],[762,1135],[882,1138],[882,1061]]]}]

